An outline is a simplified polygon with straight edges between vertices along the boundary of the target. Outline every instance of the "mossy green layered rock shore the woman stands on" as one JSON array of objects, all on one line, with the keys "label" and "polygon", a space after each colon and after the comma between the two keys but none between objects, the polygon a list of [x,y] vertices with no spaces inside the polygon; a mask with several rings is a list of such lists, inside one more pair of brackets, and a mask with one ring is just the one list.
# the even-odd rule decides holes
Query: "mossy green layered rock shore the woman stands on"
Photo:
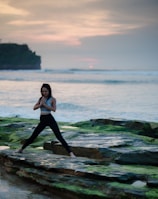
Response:
[{"label": "mossy green layered rock shore the woman stands on", "polygon": [[77,156],[70,158],[49,128],[24,153],[17,153],[37,121],[0,121],[0,163],[8,173],[62,198],[158,198],[157,123],[115,119],[60,123]]}]

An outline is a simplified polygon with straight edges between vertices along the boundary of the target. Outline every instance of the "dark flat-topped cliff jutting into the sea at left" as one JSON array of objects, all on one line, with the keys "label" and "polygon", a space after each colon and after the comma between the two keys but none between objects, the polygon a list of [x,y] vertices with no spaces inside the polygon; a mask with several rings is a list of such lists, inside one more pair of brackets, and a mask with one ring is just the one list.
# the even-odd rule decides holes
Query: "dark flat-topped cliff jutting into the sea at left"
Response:
[{"label": "dark flat-topped cliff jutting into the sea at left", "polygon": [[0,70],[41,69],[41,57],[26,44],[0,44]]}]

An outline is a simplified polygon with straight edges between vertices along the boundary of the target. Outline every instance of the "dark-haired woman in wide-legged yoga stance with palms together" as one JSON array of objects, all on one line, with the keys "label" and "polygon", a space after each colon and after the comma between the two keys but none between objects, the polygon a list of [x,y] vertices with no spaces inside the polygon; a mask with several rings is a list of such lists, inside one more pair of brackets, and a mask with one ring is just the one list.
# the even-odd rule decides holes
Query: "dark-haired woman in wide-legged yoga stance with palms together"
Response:
[{"label": "dark-haired woman in wide-legged yoga stance with palms together", "polygon": [[41,97],[34,105],[33,109],[37,110],[39,108],[41,109],[40,122],[35,128],[32,135],[29,137],[29,139],[26,140],[26,142],[18,150],[18,152],[22,153],[22,151],[35,140],[35,138],[41,133],[41,131],[43,131],[46,126],[49,126],[54,132],[56,138],[61,142],[61,144],[70,154],[70,156],[75,157],[70,147],[62,137],[58,124],[51,114],[51,111],[56,111],[56,99],[52,96],[52,91],[49,84],[43,84],[41,87]]}]

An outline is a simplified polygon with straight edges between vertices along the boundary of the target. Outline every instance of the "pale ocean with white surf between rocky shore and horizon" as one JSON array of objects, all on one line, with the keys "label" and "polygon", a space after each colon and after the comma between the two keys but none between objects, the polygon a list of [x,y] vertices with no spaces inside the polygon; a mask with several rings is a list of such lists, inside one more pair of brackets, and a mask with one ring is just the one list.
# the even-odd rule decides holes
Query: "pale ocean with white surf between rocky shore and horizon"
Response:
[{"label": "pale ocean with white surf between rocky shore and horizon", "polygon": [[0,116],[38,119],[43,83],[57,99],[57,121],[158,121],[158,71],[131,70],[1,70]]}]

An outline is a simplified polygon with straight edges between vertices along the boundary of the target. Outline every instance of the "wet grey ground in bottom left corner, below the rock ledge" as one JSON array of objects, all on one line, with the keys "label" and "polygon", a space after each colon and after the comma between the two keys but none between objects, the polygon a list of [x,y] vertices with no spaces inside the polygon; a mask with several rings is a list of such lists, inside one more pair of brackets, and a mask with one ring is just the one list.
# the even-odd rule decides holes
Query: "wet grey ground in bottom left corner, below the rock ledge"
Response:
[{"label": "wet grey ground in bottom left corner, below the rock ledge", "polygon": [[0,199],[61,199],[42,186],[7,173],[0,167]]}]

